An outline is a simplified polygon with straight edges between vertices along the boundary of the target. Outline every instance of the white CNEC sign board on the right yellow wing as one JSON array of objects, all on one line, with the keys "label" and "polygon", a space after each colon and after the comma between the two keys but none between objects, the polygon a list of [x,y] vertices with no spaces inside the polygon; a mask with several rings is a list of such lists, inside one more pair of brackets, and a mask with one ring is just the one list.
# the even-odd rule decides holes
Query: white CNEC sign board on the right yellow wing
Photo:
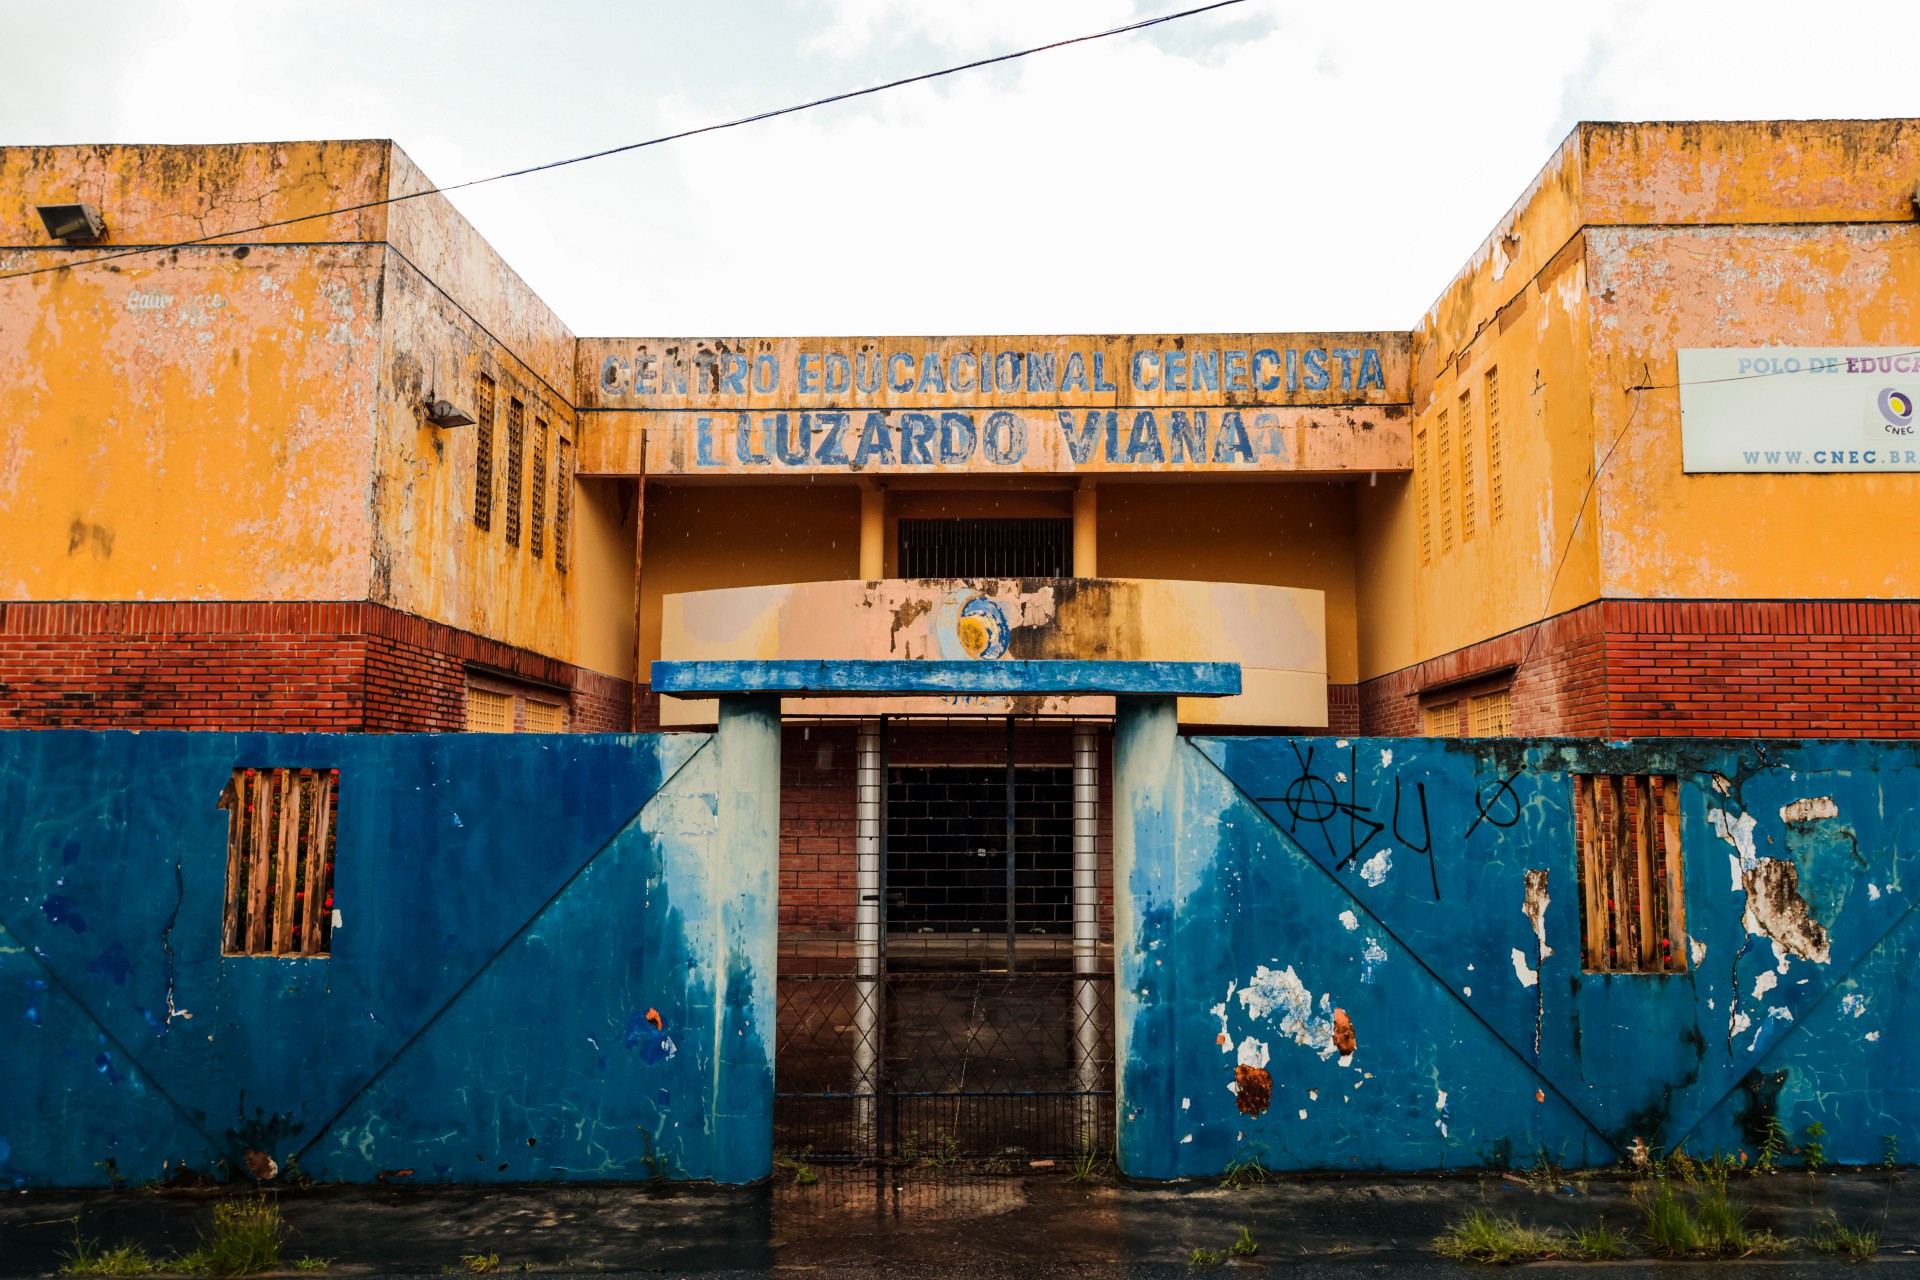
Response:
[{"label": "white CNEC sign board on the right yellow wing", "polygon": [[1682,347],[1686,472],[1920,472],[1920,344]]}]

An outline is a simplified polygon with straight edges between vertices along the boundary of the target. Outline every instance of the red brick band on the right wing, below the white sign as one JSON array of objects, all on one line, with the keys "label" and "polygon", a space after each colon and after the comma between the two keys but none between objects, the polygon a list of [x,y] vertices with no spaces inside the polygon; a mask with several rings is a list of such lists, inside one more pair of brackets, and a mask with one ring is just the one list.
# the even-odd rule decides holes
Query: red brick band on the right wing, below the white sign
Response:
[{"label": "red brick band on the right wing, below the white sign", "polygon": [[1517,735],[1920,737],[1916,664],[1920,601],[1597,601],[1365,681],[1361,731],[1511,672]]}]

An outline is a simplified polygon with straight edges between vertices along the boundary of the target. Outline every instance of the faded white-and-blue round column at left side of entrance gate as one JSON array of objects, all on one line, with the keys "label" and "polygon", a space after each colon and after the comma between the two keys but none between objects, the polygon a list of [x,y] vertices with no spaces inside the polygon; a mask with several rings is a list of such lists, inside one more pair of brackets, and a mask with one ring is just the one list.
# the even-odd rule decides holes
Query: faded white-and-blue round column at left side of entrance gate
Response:
[{"label": "faded white-and-blue round column at left side of entrance gate", "polygon": [[[774,1171],[774,981],[780,967],[780,699],[720,699],[714,954],[714,1180]],[[745,986],[745,990],[741,990]]]}]

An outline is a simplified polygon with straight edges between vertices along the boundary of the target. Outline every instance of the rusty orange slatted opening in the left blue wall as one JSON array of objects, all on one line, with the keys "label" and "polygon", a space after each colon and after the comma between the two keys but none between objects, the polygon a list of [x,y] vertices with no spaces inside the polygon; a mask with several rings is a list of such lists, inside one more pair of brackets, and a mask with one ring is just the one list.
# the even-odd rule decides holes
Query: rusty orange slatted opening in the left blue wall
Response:
[{"label": "rusty orange slatted opening in the left blue wall", "polygon": [[338,770],[234,770],[227,810],[227,956],[326,956]]}]

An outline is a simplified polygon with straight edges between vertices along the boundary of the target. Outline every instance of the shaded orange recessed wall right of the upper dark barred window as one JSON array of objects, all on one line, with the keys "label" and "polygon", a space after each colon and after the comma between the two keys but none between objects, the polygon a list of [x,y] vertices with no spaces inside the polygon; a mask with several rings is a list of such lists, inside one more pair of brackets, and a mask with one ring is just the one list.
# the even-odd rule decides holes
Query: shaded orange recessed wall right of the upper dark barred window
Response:
[{"label": "shaded orange recessed wall right of the upper dark barred window", "polygon": [[[1359,484],[1365,484],[1363,480]],[[1327,595],[1327,679],[1359,677],[1348,484],[1100,487],[1100,576],[1308,587]]]}]

